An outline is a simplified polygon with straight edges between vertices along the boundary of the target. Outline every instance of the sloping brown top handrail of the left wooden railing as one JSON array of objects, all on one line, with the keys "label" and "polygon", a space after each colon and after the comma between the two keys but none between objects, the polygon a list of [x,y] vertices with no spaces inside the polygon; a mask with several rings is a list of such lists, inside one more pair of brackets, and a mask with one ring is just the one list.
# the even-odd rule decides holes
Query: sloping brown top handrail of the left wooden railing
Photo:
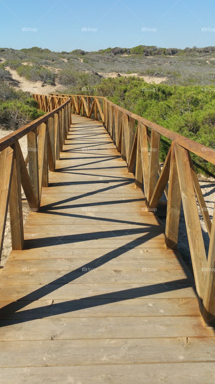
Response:
[{"label": "sloping brown top handrail of the left wooden railing", "polygon": [[[42,95],[42,96],[45,96],[45,95]],[[52,117],[55,113],[59,112],[62,109],[62,107],[66,106],[68,103],[70,103],[70,99],[65,101],[65,103],[61,104],[59,107],[52,109],[52,111],[47,112],[45,115],[41,116],[40,118],[35,119],[30,123],[24,125],[23,127],[17,129],[16,131],[11,132],[7,136],[2,137],[2,139],[0,139],[0,151],[3,151],[3,149],[13,145],[16,141],[20,140],[27,133],[33,131],[43,122],[46,122],[47,119]]]}]

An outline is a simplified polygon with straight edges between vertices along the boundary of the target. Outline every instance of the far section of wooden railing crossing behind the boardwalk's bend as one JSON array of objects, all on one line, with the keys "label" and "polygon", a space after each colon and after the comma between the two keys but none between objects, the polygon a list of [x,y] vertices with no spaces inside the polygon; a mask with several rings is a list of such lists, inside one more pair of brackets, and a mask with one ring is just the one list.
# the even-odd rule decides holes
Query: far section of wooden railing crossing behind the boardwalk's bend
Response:
[{"label": "far section of wooden railing crossing behind the boardwalk's bend", "polygon": [[71,98],[71,110],[73,113],[104,122],[104,97],[60,93],[52,93],[52,96],[69,97]]}]

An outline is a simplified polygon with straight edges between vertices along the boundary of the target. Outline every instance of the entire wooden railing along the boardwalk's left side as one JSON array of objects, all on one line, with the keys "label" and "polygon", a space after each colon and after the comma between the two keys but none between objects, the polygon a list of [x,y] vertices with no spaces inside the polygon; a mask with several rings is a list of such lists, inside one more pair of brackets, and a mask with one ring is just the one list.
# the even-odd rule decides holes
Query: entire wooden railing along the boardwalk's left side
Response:
[{"label": "entire wooden railing along the boardwalk's left side", "polygon": [[[41,189],[49,186],[49,171],[70,128],[70,98],[33,95],[43,111],[49,111],[17,131],[0,139],[0,258],[2,255],[8,205],[10,212],[11,245],[13,250],[24,246],[21,186],[29,209],[40,209]],[[28,155],[23,158],[19,139],[27,136]]]}]

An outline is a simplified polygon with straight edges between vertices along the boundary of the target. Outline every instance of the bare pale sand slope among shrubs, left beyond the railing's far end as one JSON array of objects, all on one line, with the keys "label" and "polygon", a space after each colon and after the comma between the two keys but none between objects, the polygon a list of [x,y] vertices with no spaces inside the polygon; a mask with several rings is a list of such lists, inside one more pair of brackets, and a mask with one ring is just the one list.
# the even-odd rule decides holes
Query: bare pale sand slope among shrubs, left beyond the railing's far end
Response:
[{"label": "bare pale sand slope among shrubs, left beyond the railing's far end", "polygon": [[20,88],[22,91],[25,92],[50,94],[51,92],[64,89],[64,87],[59,83],[56,83],[55,86],[48,84],[43,86],[42,81],[29,81],[26,80],[26,78],[18,75],[16,70],[11,70],[9,67],[6,67],[6,70],[10,72],[13,80],[16,81],[13,86],[15,86],[15,88]]}]

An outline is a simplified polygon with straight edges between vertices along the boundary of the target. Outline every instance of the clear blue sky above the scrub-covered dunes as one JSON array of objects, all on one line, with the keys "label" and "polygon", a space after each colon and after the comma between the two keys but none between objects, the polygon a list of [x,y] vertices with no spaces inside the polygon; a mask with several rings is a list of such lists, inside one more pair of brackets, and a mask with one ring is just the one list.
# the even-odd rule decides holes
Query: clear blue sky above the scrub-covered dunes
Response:
[{"label": "clear blue sky above the scrub-covered dunes", "polygon": [[0,46],[14,49],[215,45],[214,0],[0,0],[0,15]]}]

